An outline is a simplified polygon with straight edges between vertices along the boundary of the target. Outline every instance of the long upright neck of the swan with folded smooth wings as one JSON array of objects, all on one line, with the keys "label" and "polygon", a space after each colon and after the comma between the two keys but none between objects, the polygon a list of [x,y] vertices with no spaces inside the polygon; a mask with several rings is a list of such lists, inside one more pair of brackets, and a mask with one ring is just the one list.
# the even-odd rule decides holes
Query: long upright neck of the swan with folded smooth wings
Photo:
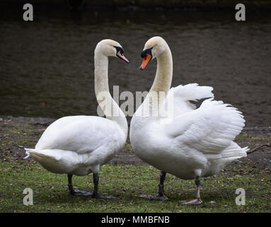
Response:
[{"label": "long upright neck of the swan with folded smooth wings", "polygon": [[125,114],[110,94],[108,86],[108,56],[103,55],[98,50],[94,53],[94,75],[95,94],[100,108],[106,118],[115,121],[122,128],[122,132],[127,135],[128,126]]}]

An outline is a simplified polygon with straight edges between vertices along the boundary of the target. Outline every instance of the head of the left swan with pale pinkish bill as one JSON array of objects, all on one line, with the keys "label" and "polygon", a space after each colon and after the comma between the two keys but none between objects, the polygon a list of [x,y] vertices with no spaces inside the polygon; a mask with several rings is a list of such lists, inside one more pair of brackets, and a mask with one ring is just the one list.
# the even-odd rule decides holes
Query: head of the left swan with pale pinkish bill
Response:
[{"label": "head of the left swan with pale pinkish bill", "polygon": [[101,40],[95,48],[95,55],[100,53],[102,55],[105,55],[107,57],[118,57],[121,60],[124,60],[125,62],[129,63],[129,60],[123,55],[125,50],[123,50],[122,46],[120,43],[117,43],[115,40]]}]

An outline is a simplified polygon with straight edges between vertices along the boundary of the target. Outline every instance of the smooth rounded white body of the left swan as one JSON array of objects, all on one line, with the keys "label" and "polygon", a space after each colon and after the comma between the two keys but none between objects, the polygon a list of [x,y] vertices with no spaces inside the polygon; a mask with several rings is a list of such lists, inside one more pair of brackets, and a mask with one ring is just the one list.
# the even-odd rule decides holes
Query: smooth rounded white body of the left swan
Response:
[{"label": "smooth rounded white body of the left swan", "polygon": [[125,142],[125,133],[108,118],[66,116],[54,121],[35,149],[26,152],[50,172],[83,176],[98,172]]}]

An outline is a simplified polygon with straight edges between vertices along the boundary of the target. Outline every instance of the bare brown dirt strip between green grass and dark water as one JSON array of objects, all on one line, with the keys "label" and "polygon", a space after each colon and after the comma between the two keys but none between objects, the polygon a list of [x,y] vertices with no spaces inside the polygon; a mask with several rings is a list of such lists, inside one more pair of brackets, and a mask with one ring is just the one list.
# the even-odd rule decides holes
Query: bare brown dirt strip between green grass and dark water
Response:
[{"label": "bare brown dirt strip between green grass and dark water", "polygon": [[[0,157],[3,159],[23,159],[25,152],[22,147],[34,148],[40,135],[52,123],[52,118],[0,117]],[[249,146],[250,150],[260,145],[271,144],[271,127],[244,128],[236,142],[241,147]],[[21,147],[22,146],[22,147]],[[235,164],[255,162],[255,165],[271,164],[271,148],[263,146],[255,152],[237,160]],[[146,165],[132,150],[129,138],[125,148],[110,163],[116,165]],[[234,165],[234,163],[233,163]]]}]

